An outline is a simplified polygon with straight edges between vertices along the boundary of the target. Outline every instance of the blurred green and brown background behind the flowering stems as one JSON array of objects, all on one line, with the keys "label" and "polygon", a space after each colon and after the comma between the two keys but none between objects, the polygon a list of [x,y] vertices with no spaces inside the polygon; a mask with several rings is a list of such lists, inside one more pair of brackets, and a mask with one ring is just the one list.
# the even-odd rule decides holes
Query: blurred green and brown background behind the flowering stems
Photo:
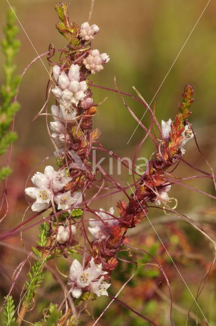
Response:
[{"label": "blurred green and brown background behind the flowering stems", "polygon": [[[56,2],[53,0],[13,1],[13,6],[17,10],[17,16],[38,53],[45,52],[48,49],[49,43],[53,43],[56,48],[61,48],[65,45],[64,38],[58,35],[55,29],[57,21],[54,11],[55,4]],[[100,26],[100,33],[95,37],[94,47],[98,48],[100,52],[107,52],[110,56],[110,62],[101,73],[92,76],[91,79],[96,85],[114,89],[113,77],[116,76],[117,85],[121,91],[135,95],[132,89],[132,86],[135,86],[148,103],[152,101],[161,87],[156,103],[156,116],[159,122],[161,119],[166,121],[169,118],[174,118],[184,85],[186,83],[192,84],[195,102],[192,105],[190,122],[195,129],[201,150],[208,158],[212,167],[215,168],[216,21],[214,13],[216,3],[210,2],[167,75],[205,5],[206,2],[203,0],[197,0],[196,2],[193,0],[96,0],[91,22]],[[0,22],[3,24],[8,10],[7,2],[4,2],[1,6]],[[90,0],[73,0],[70,9],[71,20],[76,20],[78,24],[86,21],[89,7]],[[0,38],[3,38],[1,32]],[[22,43],[21,51],[18,53],[16,60],[17,70],[20,74],[25,66],[37,57],[37,53],[21,27],[18,38]],[[3,61],[3,53],[0,53],[0,62]],[[42,61],[48,68],[46,59],[42,59]],[[167,77],[164,80],[166,75]],[[1,71],[1,84],[3,84],[3,78],[3,72]],[[3,223],[2,232],[10,229],[11,225],[17,225],[21,222],[21,216],[26,208],[24,198],[26,178],[30,170],[53,151],[52,143],[47,137],[45,119],[39,117],[34,122],[31,122],[31,119],[40,111],[44,104],[47,79],[48,74],[42,63],[38,61],[22,80],[18,96],[22,110],[17,114],[15,121],[15,130],[19,135],[19,139],[14,146],[12,155],[12,168],[14,171],[19,171],[19,174],[15,172],[11,180],[9,180],[8,200],[10,203],[10,218]],[[163,81],[164,83],[161,86]],[[92,88],[92,91],[96,103],[101,102],[106,96],[109,97],[99,107],[99,114],[94,120],[94,126],[99,127],[103,131],[100,142],[108,150],[112,150],[119,156],[133,157],[137,145],[144,137],[143,130],[141,127],[138,127],[133,138],[127,144],[134,132],[136,122],[130,116],[117,94],[97,88]],[[125,97],[125,99],[138,118],[141,118],[145,113],[143,106],[129,97]],[[152,106],[153,103],[151,104]],[[142,122],[149,126],[150,118],[148,113],[144,115]],[[149,158],[153,149],[152,143],[148,140],[143,145],[140,156]],[[204,159],[197,151],[194,141],[187,144],[186,150],[186,154],[183,156],[184,159],[190,161],[197,168],[210,172]],[[46,162],[39,171],[43,171],[45,164]],[[49,159],[49,164],[55,165],[54,158]],[[175,174],[180,177],[186,177],[194,175],[194,172],[188,169],[186,165],[180,164]],[[122,174],[120,176],[116,175],[116,177],[119,182],[125,185],[127,181],[130,182],[131,180],[131,177],[128,175]],[[186,184],[202,189],[202,191],[212,195],[215,193],[209,180],[196,179],[188,181]],[[207,233],[215,239],[216,209],[212,200],[188,189],[186,192],[186,189],[180,186],[172,186],[171,192],[172,197],[178,199],[178,210],[182,213],[188,213],[191,218],[198,221]],[[100,207],[107,209],[114,205],[118,199],[121,199],[119,195],[109,198],[109,202],[104,200],[100,202]],[[162,211],[150,209],[149,217],[155,219],[154,222],[162,241],[168,246],[168,251],[174,257],[175,262],[177,261],[181,274],[196,296],[202,277],[210,266],[213,255],[211,245],[197,230],[184,222],[178,222],[176,216],[165,216],[166,223],[171,220],[176,229],[179,228],[182,233],[176,230],[174,232],[174,226],[168,228],[165,224],[165,227],[163,225],[159,227],[160,224],[157,224],[156,219],[164,219]],[[32,239],[35,237],[37,229],[35,228],[25,233],[26,249],[29,249],[32,245]],[[174,322],[176,325],[184,324],[193,299],[183,285],[174,266],[170,263],[166,253],[161,254],[161,244],[158,242],[155,233],[149,228],[149,222],[144,221],[143,226],[138,231],[141,234],[139,236],[133,234],[133,230],[131,232],[132,245],[136,245],[137,242],[137,247],[150,252],[155,250],[154,254],[156,256],[160,254],[158,258],[159,261],[161,259],[160,263],[162,263],[171,279],[174,302],[178,308],[173,311]],[[184,244],[188,243],[188,246],[182,247],[182,239],[185,240]],[[19,236],[8,241],[17,248],[21,247]],[[190,248],[189,252],[187,252],[187,248]],[[23,253],[17,254],[16,252],[16,255],[13,255],[10,261],[8,261],[9,254],[11,255],[11,250],[3,248],[0,263],[3,275],[0,281],[2,295],[7,293],[13,271],[24,257]],[[176,254],[179,254],[178,257]],[[136,258],[140,263],[146,263],[145,255],[142,257],[137,255]],[[66,264],[67,260],[63,259],[60,269],[67,269]],[[3,266],[5,267],[3,268]],[[115,271],[116,281],[110,287],[113,295],[122,285],[122,279],[126,280],[130,277],[132,267],[132,265],[126,265],[123,262],[119,264]],[[26,270],[23,271],[23,276],[20,276],[20,286],[17,286],[13,293],[16,303],[19,300],[21,285],[24,284]],[[168,297],[167,288],[165,291],[163,289],[165,287],[165,280],[159,280],[161,274],[158,276],[157,273],[157,267],[155,269],[139,267],[136,282],[132,281],[127,285],[120,296],[120,300],[125,301],[140,313],[158,322],[160,326],[165,326],[170,324],[170,302],[166,301],[163,296],[165,293],[166,297]],[[162,286],[161,282],[163,283]],[[59,297],[59,287],[51,282],[49,271],[45,273],[44,284],[45,288],[38,291],[38,313],[47,307],[50,301],[58,300]],[[104,297],[102,300],[100,297],[100,300],[95,301],[93,303],[94,315],[98,316],[108,302],[107,298]],[[209,281],[199,297],[198,303],[209,324],[215,326],[215,268],[213,268],[210,274]],[[181,309],[182,307],[183,310]],[[196,316],[196,307],[193,307],[193,313]],[[32,314],[34,320],[39,320],[39,317]],[[205,325],[200,312],[198,317],[202,320],[200,324]],[[92,320],[89,322],[88,318],[84,321],[85,326],[92,324]],[[112,304],[102,320],[98,322],[98,326],[148,325],[147,322],[145,323],[129,310],[119,306],[118,303]],[[194,325],[196,325],[196,321],[190,319],[188,326]]]}]

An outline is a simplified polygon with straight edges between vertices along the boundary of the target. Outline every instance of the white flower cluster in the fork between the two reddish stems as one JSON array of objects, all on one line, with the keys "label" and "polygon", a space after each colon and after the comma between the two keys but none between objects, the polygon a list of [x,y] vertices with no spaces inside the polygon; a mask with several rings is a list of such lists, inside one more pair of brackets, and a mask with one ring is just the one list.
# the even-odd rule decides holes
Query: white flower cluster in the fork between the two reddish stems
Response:
[{"label": "white flower cluster in the fork between the two reddish stems", "polygon": [[[113,207],[111,207],[108,212],[113,215]],[[116,226],[118,224],[118,221],[116,219],[113,219],[112,216],[107,214],[102,208],[100,208],[100,212],[98,212],[97,214],[104,222],[102,222],[101,220],[90,219],[90,228],[88,227],[88,230],[96,240],[101,242],[107,238],[107,236],[110,234],[111,227]]]}]

